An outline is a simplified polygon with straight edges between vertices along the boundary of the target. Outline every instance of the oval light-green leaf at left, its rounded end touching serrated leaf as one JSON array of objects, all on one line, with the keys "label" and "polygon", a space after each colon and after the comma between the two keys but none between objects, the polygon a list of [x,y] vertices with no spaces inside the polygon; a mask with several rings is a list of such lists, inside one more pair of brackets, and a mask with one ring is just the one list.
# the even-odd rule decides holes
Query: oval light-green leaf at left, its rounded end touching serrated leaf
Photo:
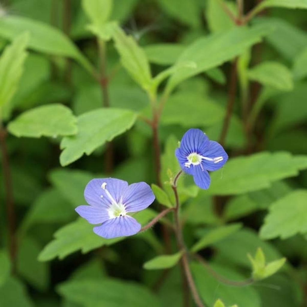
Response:
[{"label": "oval light-green leaf at left, its rounded end touching serrated leaf", "polygon": [[17,137],[40,138],[76,134],[76,117],[62,104],[49,104],[25,111],[10,122],[8,130]]}]

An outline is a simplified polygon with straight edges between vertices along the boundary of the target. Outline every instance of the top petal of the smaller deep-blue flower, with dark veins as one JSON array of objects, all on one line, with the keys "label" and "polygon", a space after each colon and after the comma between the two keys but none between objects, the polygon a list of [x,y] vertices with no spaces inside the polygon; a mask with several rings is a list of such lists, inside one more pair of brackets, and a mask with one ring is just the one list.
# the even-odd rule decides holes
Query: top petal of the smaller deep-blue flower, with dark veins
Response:
[{"label": "top petal of the smaller deep-blue flower, with dark veins", "polygon": [[190,153],[204,152],[209,145],[209,138],[200,129],[189,129],[181,139],[181,152],[187,157]]}]

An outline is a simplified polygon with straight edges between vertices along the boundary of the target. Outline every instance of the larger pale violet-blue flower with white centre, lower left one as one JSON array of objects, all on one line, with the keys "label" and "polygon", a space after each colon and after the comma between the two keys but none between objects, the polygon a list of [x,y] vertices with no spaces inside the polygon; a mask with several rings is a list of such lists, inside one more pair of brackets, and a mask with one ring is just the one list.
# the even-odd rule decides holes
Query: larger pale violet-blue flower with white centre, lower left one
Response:
[{"label": "larger pale violet-blue flower with white centre, lower left one", "polygon": [[115,178],[92,179],[84,190],[84,198],[89,206],[79,206],[75,210],[94,227],[94,232],[110,239],[135,235],[141,224],[128,215],[146,209],[155,196],[145,182],[128,185]]}]

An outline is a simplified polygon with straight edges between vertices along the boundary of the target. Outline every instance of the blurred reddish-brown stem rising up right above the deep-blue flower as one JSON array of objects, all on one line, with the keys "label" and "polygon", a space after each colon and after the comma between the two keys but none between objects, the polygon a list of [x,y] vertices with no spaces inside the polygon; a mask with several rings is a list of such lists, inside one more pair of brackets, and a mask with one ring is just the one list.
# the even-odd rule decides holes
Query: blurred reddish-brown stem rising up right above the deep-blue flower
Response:
[{"label": "blurred reddish-brown stem rising up right above the deep-blue flower", "polygon": [[223,146],[226,140],[226,135],[228,132],[233,106],[235,104],[235,91],[237,87],[237,62],[238,58],[234,60],[231,67],[231,79],[228,91],[228,102],[227,102],[227,111],[223,123],[223,128],[220,136],[220,144]]}]

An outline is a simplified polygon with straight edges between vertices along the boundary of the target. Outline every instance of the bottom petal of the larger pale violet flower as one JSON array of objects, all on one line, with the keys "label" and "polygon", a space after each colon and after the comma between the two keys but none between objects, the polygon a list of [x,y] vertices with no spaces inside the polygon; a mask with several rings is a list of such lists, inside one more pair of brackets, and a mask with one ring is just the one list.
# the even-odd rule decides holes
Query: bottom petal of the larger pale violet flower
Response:
[{"label": "bottom petal of the larger pale violet flower", "polygon": [[101,226],[94,227],[94,232],[103,238],[111,239],[135,235],[141,229],[141,224],[131,216],[119,216],[107,220]]}]

